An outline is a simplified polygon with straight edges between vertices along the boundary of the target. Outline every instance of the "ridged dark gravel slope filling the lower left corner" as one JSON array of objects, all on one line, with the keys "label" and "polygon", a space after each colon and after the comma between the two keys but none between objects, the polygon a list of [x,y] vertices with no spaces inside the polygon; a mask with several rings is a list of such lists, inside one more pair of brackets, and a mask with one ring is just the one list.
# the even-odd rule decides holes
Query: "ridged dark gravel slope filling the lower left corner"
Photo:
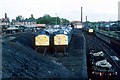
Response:
[{"label": "ridged dark gravel slope filling the lower left corner", "polygon": [[[28,36],[28,34],[27,34]],[[2,43],[2,78],[69,78],[70,71],[54,58],[43,56],[30,47],[30,38]],[[31,37],[31,36],[29,36]],[[28,40],[28,41],[25,41]],[[20,42],[23,42],[21,44]]]}]

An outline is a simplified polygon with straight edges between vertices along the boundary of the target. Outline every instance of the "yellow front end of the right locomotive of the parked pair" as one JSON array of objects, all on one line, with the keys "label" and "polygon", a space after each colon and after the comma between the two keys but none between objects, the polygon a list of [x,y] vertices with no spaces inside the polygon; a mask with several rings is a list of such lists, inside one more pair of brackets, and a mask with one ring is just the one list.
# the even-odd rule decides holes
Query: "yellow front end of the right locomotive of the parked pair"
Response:
[{"label": "yellow front end of the right locomotive of the parked pair", "polygon": [[64,34],[54,36],[54,45],[68,45],[68,36]]}]

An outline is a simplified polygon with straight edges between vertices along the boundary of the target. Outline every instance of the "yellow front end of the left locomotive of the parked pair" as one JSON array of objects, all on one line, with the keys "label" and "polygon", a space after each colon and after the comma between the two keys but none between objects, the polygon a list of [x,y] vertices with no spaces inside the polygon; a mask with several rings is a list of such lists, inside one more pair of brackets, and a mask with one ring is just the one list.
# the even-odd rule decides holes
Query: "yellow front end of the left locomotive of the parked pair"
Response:
[{"label": "yellow front end of the left locomotive of the parked pair", "polygon": [[49,36],[38,35],[35,37],[36,46],[49,46]]}]

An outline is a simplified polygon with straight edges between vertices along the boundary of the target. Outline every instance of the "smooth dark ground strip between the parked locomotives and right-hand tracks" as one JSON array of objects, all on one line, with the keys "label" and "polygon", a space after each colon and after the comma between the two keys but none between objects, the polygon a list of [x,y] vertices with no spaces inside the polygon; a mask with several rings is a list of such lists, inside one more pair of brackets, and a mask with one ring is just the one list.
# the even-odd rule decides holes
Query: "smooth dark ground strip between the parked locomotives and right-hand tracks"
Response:
[{"label": "smooth dark ground strip between the parked locomotives and right-hand tracks", "polygon": [[[73,76],[72,78],[81,78],[82,72],[82,65],[83,65],[83,53],[82,53],[82,37],[80,35],[79,30],[74,30],[73,38],[71,40],[71,43],[69,45],[69,48],[67,48],[67,52],[69,53],[66,57],[57,57],[56,62],[61,63],[63,66],[68,68]],[[85,75],[85,74],[84,74]]]}]

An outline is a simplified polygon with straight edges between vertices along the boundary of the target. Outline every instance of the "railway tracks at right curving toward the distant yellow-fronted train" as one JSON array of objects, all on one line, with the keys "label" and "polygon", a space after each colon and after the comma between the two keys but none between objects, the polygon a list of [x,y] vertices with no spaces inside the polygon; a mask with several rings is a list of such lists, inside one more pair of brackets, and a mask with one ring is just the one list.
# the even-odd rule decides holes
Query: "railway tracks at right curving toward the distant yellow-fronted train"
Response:
[{"label": "railway tracks at right curving toward the distant yellow-fronted train", "polygon": [[[89,49],[95,49],[97,51],[103,50],[108,55],[108,57],[116,64],[116,66],[120,69],[120,64],[118,64],[119,56],[112,50],[112,48],[106,45],[103,41],[100,41],[94,35],[87,35],[87,36],[88,36],[87,39],[89,39],[89,41],[87,41],[87,43],[89,43],[88,46]],[[116,59],[114,59],[114,57]]]}]

